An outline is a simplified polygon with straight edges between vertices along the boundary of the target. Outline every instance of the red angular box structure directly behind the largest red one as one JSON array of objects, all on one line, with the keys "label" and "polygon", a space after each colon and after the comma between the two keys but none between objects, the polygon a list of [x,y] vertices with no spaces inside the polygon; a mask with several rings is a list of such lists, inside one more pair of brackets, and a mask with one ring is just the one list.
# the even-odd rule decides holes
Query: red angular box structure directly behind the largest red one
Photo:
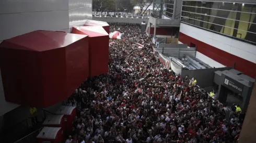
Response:
[{"label": "red angular box structure directly behind the largest red one", "polygon": [[89,36],[89,74],[96,76],[108,73],[109,64],[109,34],[102,27],[73,27],[75,34]]}]

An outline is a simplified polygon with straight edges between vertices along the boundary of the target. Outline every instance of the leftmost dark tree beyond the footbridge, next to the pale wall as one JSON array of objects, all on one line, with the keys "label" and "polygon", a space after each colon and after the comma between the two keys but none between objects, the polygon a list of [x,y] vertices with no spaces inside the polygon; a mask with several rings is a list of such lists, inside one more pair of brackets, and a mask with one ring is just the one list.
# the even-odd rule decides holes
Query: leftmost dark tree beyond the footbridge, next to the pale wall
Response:
[{"label": "leftmost dark tree beyond the footbridge, next to the pale wall", "polygon": [[92,0],[92,9],[95,11],[115,11],[115,0]]}]

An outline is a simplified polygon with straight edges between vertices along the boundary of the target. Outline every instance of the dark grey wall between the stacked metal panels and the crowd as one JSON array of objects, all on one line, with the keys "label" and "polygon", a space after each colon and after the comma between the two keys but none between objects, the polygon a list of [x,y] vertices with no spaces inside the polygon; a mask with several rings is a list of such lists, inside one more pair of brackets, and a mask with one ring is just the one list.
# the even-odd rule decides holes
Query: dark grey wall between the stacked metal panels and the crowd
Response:
[{"label": "dark grey wall between the stacked metal panels and the crowd", "polygon": [[190,79],[194,77],[194,79],[196,79],[196,85],[199,85],[200,87],[204,88],[208,86],[213,86],[215,71],[224,71],[224,70],[230,70],[230,69],[232,69],[232,67],[182,70],[181,77],[183,78],[187,75],[189,75]]}]

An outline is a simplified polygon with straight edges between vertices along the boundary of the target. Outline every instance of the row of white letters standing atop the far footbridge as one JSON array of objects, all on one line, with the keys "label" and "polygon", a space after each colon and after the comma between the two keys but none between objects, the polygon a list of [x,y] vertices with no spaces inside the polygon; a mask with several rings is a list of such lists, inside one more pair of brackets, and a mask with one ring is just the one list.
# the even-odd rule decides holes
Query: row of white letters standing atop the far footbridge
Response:
[{"label": "row of white letters standing atop the far footbridge", "polygon": [[129,16],[129,17],[143,17],[146,14],[129,13],[129,12],[92,12],[94,16]]}]

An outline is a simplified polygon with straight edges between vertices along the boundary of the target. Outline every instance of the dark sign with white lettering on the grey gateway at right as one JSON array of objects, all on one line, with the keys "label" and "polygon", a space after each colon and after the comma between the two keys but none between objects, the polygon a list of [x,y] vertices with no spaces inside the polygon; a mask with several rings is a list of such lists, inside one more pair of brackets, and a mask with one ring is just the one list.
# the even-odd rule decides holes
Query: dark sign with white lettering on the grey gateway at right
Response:
[{"label": "dark sign with white lettering on the grey gateway at right", "polygon": [[234,89],[234,92],[236,93],[242,93],[243,85],[227,76],[225,77],[224,85],[230,89]]}]

